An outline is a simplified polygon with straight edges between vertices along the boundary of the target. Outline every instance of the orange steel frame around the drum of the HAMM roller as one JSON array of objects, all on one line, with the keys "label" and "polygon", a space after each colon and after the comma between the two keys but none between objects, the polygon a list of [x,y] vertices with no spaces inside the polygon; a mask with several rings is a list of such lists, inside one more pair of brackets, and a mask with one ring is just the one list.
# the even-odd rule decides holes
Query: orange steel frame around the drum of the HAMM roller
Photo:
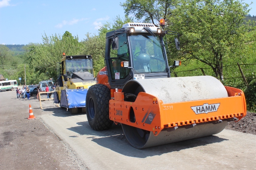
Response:
[{"label": "orange steel frame around the drum of the HAMM roller", "polygon": [[[140,92],[135,102],[124,101],[123,92],[114,92],[114,100],[109,102],[110,120],[152,131],[157,136],[162,130],[171,131],[176,127],[193,126],[200,123],[219,121],[239,121],[246,115],[246,102],[242,90],[225,86],[228,96],[207,100],[164,104],[156,96]],[[217,111],[196,114],[191,107],[204,104],[220,104]],[[130,108],[134,109],[136,121],[130,121]],[[212,109],[214,110],[214,109]],[[151,120],[151,121],[150,121]],[[169,128],[169,129],[168,129]]]}]

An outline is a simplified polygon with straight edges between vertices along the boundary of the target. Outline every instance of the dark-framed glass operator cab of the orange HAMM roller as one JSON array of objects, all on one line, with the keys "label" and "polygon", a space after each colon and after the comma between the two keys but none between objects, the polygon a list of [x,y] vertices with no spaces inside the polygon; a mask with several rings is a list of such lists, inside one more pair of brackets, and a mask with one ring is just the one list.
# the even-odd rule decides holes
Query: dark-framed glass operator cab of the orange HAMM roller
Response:
[{"label": "dark-framed glass operator cab of the orange HAMM roller", "polygon": [[126,23],[108,32],[105,60],[111,88],[122,88],[132,79],[170,77],[165,34],[150,23]]}]

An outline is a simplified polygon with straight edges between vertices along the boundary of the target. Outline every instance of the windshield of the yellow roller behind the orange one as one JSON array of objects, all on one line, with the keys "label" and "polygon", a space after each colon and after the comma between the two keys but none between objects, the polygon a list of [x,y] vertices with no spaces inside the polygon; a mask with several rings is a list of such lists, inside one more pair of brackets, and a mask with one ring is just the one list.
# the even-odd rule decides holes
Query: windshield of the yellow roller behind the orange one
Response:
[{"label": "windshield of the yellow roller behind the orange one", "polygon": [[71,77],[73,72],[89,72],[94,76],[92,59],[70,59],[66,60],[66,73]]}]

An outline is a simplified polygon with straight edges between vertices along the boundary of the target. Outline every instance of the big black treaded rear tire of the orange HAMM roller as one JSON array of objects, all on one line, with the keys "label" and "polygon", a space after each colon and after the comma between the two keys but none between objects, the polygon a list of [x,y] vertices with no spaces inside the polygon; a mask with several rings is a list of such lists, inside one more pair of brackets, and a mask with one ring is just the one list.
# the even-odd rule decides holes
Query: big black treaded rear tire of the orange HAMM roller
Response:
[{"label": "big black treaded rear tire of the orange HAMM roller", "polygon": [[94,84],[86,94],[86,116],[92,129],[109,129],[113,121],[109,119],[108,102],[110,89],[103,84]]}]

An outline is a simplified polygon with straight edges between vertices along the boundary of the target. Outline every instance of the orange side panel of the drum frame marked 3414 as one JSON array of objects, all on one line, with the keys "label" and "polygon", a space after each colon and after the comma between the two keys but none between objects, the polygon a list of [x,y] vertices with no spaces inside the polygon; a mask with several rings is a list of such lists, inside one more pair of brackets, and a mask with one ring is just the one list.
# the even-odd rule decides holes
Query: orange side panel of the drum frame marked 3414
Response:
[{"label": "orange side panel of the drum frame marked 3414", "polygon": [[[139,127],[140,129],[156,131],[159,133],[163,129],[163,127],[161,128],[160,108],[159,105],[156,104],[157,100],[153,100],[153,98],[156,97],[140,92],[135,102],[110,100],[110,119],[133,127]],[[131,109],[134,111],[135,122],[131,121],[134,117],[130,115]]]}]

